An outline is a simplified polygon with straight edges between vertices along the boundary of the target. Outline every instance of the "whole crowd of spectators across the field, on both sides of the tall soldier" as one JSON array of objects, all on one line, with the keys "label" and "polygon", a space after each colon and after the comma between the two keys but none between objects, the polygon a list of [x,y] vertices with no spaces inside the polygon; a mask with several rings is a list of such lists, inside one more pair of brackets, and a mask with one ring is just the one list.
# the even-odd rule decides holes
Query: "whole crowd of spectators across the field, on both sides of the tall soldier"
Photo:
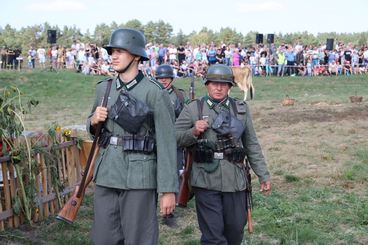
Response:
[{"label": "whole crowd of spectators across the field, on both sides of the tall soldier", "polygon": [[[158,65],[170,64],[178,77],[203,77],[207,67],[215,63],[249,67],[254,76],[348,76],[368,73],[368,46],[356,47],[343,42],[336,43],[331,50],[326,49],[326,45],[313,46],[301,43],[279,46],[273,43],[257,44],[252,47],[224,43],[195,47],[190,43],[178,47],[173,44],[164,46],[148,43],[146,52],[150,60],[143,62],[140,68],[152,76]],[[17,60],[23,59],[18,57]],[[27,64],[30,69],[36,67],[36,61],[40,68],[45,68],[47,60],[51,69],[75,69],[92,75],[112,74],[110,57],[106,50],[95,44],[84,44],[79,40],[67,48],[52,45],[48,49],[43,47],[29,49]]]}]

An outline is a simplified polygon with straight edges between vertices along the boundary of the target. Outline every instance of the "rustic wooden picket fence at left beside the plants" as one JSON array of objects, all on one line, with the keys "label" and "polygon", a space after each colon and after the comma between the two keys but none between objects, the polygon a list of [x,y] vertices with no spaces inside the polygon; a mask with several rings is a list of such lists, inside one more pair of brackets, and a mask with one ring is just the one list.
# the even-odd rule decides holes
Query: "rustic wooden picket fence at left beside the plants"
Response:
[{"label": "rustic wooden picket fence at left beside the plants", "polygon": [[[59,158],[57,171],[64,186],[64,189],[60,190],[62,205],[71,196],[75,185],[82,177],[81,174],[91,144],[91,141],[83,141],[79,149],[77,140],[72,138],[72,140],[62,142],[57,146],[57,151],[60,153],[57,154]],[[36,198],[32,210],[32,220],[37,222],[57,214],[61,207],[52,185],[51,169],[45,163],[44,154],[38,153],[32,157],[36,160],[39,168],[34,186]],[[2,177],[2,179],[0,178],[0,231],[3,231],[7,228],[19,227],[26,220],[22,213],[15,211],[17,208],[14,206],[16,205],[16,192],[20,187],[20,182],[9,156],[0,157],[0,167],[0,177]]]}]

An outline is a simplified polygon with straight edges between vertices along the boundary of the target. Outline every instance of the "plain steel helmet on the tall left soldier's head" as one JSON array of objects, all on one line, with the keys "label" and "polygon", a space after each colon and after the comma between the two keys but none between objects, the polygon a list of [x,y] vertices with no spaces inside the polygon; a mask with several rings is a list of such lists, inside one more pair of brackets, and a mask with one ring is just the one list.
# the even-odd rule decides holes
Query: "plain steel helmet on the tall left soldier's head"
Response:
[{"label": "plain steel helmet on the tall left soldier's head", "polygon": [[110,43],[104,48],[111,55],[112,48],[121,48],[127,50],[133,55],[141,57],[141,60],[149,60],[146,50],[146,38],[144,35],[134,29],[117,29],[113,31],[110,38]]}]

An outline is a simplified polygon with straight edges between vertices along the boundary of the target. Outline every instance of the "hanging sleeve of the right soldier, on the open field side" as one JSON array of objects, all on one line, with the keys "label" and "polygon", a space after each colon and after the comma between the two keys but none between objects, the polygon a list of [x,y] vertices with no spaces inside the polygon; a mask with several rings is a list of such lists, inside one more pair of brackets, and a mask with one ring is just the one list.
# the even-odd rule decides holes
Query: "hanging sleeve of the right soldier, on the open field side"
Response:
[{"label": "hanging sleeve of the right soldier, on the open field side", "polygon": [[267,169],[261,145],[258,142],[256,132],[253,128],[252,116],[249,107],[246,107],[245,131],[242,136],[243,145],[254,173],[258,176],[260,182],[270,179],[270,173]]}]

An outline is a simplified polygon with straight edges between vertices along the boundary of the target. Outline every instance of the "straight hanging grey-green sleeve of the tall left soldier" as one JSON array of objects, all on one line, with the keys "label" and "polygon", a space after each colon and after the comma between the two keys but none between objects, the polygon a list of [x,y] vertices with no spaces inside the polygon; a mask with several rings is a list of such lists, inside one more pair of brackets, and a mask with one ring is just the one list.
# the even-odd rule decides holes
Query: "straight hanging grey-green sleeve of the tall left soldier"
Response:
[{"label": "straight hanging grey-green sleeve of the tall left soldier", "polygon": [[157,145],[157,192],[178,192],[174,108],[169,94],[161,90],[154,105]]}]

